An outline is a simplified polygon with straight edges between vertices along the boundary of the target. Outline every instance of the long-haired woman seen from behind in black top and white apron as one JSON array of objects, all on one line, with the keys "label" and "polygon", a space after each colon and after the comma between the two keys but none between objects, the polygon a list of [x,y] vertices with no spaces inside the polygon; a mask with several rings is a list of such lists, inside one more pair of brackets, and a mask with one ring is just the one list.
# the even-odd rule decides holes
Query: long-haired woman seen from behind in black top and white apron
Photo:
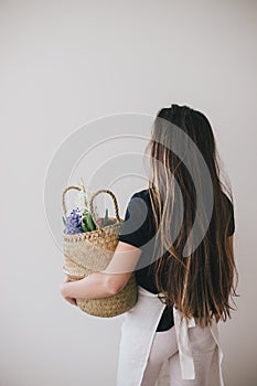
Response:
[{"label": "long-haired woman seen from behind in black top and white apron", "polygon": [[61,291],[71,302],[115,294],[135,269],[117,386],[223,385],[216,324],[231,318],[237,270],[214,135],[203,114],[172,105],[159,111],[149,149],[149,187],[131,196],[111,262]]}]

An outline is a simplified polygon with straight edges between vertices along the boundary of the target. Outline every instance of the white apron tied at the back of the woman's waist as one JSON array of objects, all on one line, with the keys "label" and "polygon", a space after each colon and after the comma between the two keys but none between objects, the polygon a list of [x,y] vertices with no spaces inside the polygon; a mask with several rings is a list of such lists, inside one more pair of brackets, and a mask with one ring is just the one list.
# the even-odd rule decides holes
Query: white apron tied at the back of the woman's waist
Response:
[{"label": "white apron tied at the back of the woman's waist", "polygon": [[[152,293],[138,286],[137,303],[124,313],[116,386],[141,385],[156,329],[164,308],[165,304],[160,301],[158,293]],[[194,326],[195,321],[192,318],[188,324],[183,319],[180,323],[180,312],[174,307],[173,315],[182,379],[194,379],[194,362],[191,355],[188,329]],[[222,376],[223,353],[215,321],[211,332],[218,347],[219,385],[217,386],[224,386]],[[169,360],[167,360],[163,362],[154,386],[169,386]]]}]

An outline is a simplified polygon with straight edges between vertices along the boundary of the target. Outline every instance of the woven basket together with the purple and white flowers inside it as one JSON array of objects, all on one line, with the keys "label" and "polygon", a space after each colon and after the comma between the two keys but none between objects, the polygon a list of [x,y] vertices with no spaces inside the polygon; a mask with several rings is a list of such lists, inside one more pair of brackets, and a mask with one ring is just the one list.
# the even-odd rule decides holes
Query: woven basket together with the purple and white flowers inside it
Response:
[{"label": "woven basket together with the purple and white flowers inside it", "polygon": [[[69,215],[66,213],[65,194],[69,190],[78,191],[78,205]],[[99,193],[110,194],[116,210],[116,218],[96,214],[93,202]],[[110,262],[118,244],[118,234],[122,224],[118,203],[109,190],[99,190],[92,194],[88,205],[88,190],[82,179],[81,186],[67,186],[63,192],[63,223],[65,264],[63,271],[71,280],[79,280],[93,272],[103,271]],[[76,299],[77,305],[86,313],[110,318],[126,312],[135,305],[138,297],[137,281],[132,272],[127,285],[115,296],[100,299]]]}]

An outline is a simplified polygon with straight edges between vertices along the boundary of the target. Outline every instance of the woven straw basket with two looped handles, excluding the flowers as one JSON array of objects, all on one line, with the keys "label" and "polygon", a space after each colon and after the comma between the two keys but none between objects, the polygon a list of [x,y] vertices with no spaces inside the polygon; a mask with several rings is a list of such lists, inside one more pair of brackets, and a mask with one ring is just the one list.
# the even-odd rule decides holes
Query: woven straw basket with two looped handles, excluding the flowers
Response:
[{"label": "woven straw basket with two looped handles, excluding the flowers", "polygon": [[[67,186],[63,192],[63,212],[66,217],[65,194],[69,190],[81,191],[79,186]],[[116,218],[115,224],[100,228],[98,225],[93,201],[99,193],[110,194],[114,204]],[[96,229],[79,234],[67,234],[64,229],[63,253],[65,265],[63,271],[69,279],[79,280],[93,272],[103,271],[110,262],[115,249],[118,244],[118,235],[124,219],[119,217],[119,210],[115,194],[109,190],[99,190],[92,195],[89,201],[89,210],[92,218],[96,225]],[[138,300],[138,286],[135,272],[131,274],[127,285],[115,296],[100,299],[76,299],[77,305],[82,311],[101,318],[111,318],[119,315],[132,308]]]}]

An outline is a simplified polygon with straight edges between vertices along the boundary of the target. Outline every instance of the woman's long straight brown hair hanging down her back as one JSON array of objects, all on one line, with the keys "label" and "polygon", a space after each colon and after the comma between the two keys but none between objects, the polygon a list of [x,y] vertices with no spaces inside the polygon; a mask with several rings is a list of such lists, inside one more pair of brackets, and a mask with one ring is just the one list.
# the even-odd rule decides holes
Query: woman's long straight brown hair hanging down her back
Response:
[{"label": "woman's long straight brown hair hanging down her back", "polygon": [[[174,126],[196,146],[212,179],[212,222],[200,245],[186,257],[182,253],[193,228],[200,199],[196,196],[194,183],[195,178],[202,181],[202,175],[193,147],[180,139],[175,143],[180,147],[180,156],[174,148],[171,150],[175,138],[172,129]],[[213,317],[216,322],[226,321],[227,317],[231,318],[229,310],[234,310],[229,298],[238,296],[238,272],[227,239],[232,219],[227,202],[231,201],[233,205],[234,201],[229,184],[225,186],[221,181],[221,159],[211,124],[202,112],[188,106],[172,105],[171,108],[162,108],[152,126],[152,138],[146,150],[149,149],[152,173],[149,178],[149,193],[159,234],[154,244],[156,260],[149,267],[154,271],[156,287],[159,292],[164,293],[164,303],[175,304],[183,318],[196,318],[203,326],[211,325]],[[181,153],[184,156],[181,157]],[[186,157],[193,163],[193,179],[184,162]],[[200,185],[204,189],[204,181]],[[224,190],[229,201],[224,199]],[[180,229],[179,213],[183,213]],[[173,237],[175,239],[172,239],[172,233],[178,235]]]}]

